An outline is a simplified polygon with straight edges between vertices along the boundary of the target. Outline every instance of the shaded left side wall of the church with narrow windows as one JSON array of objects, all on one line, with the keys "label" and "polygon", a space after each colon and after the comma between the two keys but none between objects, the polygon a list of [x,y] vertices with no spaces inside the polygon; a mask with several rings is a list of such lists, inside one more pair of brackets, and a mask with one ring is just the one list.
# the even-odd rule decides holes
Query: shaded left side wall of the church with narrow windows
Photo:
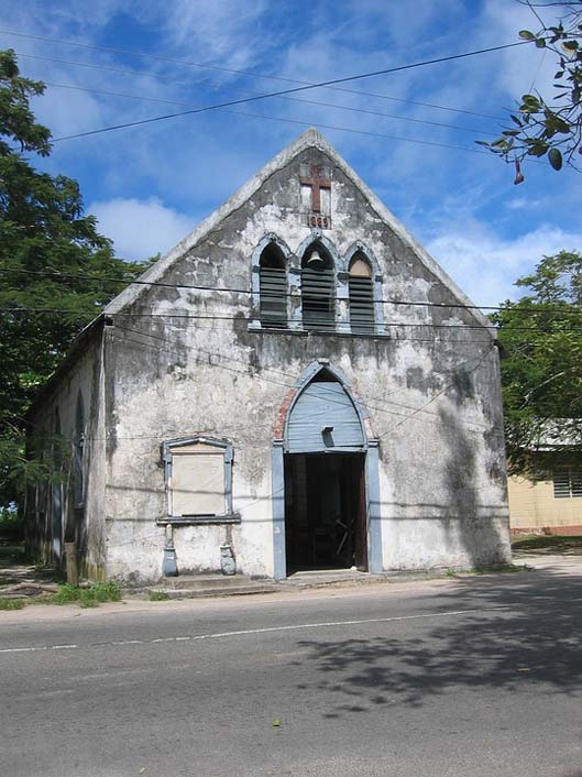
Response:
[{"label": "shaded left side wall of the church with narrow windows", "polygon": [[[79,392],[85,409],[81,506],[75,505],[73,483]],[[105,574],[103,409],[102,339],[97,328],[91,338],[85,339],[70,366],[50,384],[33,412],[33,439],[39,439],[41,455],[53,461],[62,482],[55,478],[54,482],[37,484],[26,519],[26,537],[33,555],[63,565],[65,539],[75,541],[79,572],[89,579]]]}]

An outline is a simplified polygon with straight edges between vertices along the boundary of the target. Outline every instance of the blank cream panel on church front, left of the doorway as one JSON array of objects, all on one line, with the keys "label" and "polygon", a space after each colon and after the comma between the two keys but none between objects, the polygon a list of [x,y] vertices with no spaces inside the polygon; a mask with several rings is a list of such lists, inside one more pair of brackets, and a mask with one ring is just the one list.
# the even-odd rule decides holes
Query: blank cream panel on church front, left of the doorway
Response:
[{"label": "blank cream panel on church front, left of the doorway", "polygon": [[232,517],[232,446],[206,437],[164,442],[167,514],[176,519]]}]

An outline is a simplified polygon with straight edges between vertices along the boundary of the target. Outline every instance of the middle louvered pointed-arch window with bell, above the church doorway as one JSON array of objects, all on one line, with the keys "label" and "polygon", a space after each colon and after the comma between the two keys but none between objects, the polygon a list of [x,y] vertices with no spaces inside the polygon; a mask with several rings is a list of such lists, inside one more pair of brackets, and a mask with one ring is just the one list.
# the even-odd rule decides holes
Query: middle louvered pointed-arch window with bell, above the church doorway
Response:
[{"label": "middle louvered pointed-arch window with bell, above the church doorway", "polygon": [[311,243],[301,258],[301,311],[306,329],[334,329],[333,260],[319,242]]}]

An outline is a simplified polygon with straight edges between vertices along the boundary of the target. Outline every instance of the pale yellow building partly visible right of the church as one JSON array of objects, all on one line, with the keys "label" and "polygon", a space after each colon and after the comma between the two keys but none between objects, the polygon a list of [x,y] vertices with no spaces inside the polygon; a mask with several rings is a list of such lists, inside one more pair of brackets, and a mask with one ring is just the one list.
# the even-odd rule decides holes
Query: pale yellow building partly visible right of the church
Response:
[{"label": "pale yellow building partly visible right of the church", "polygon": [[549,480],[508,478],[513,534],[582,534],[582,466],[560,467]]}]

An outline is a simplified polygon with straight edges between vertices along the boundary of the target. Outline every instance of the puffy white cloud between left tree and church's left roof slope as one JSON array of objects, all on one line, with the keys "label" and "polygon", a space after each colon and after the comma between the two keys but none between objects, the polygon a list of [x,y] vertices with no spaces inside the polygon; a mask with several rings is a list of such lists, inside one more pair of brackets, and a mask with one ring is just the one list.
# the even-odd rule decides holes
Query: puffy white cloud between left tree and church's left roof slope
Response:
[{"label": "puffy white cloud between left tree and church's left roof slope", "polygon": [[97,216],[99,231],[113,240],[118,255],[130,260],[165,253],[196,225],[194,218],[167,208],[157,197],[120,197],[92,203],[88,210]]}]

